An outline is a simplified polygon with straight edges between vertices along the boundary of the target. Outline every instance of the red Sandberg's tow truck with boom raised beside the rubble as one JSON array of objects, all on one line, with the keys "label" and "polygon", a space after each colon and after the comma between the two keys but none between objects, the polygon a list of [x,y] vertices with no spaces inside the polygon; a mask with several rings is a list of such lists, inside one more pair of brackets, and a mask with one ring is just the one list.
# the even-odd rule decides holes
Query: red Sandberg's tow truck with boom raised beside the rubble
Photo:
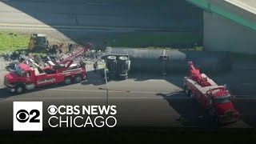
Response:
[{"label": "red Sandberg's tow truck with boom raised beside the rubble", "polygon": [[48,66],[39,67],[33,60],[32,66],[20,63],[15,70],[5,75],[4,85],[7,90],[21,94],[24,90],[32,90],[35,87],[46,86],[53,83],[64,82],[66,85],[72,82],[81,82],[86,77],[86,68],[82,60],[75,59],[86,53],[92,44],[80,47],[69,57],[61,62],[48,61]]}]

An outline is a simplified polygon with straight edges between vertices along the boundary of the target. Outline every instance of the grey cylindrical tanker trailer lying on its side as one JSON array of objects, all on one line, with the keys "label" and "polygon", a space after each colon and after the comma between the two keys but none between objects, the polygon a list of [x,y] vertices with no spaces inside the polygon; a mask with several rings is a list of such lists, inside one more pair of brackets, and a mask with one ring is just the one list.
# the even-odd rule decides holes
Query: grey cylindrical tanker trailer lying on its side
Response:
[{"label": "grey cylindrical tanker trailer lying on its side", "polygon": [[130,72],[172,74],[187,72],[192,61],[202,71],[224,72],[231,69],[230,54],[214,51],[145,50],[126,47],[107,47],[106,55],[126,54]]}]

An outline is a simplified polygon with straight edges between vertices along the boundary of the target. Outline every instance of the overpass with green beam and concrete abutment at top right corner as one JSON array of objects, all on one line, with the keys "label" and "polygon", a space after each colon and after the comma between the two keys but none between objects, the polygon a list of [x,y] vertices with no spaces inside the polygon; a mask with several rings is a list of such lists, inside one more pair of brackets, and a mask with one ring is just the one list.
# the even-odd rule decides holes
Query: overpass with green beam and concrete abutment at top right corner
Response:
[{"label": "overpass with green beam and concrete abutment at top right corner", "polygon": [[186,0],[204,10],[205,50],[256,54],[255,0]]}]

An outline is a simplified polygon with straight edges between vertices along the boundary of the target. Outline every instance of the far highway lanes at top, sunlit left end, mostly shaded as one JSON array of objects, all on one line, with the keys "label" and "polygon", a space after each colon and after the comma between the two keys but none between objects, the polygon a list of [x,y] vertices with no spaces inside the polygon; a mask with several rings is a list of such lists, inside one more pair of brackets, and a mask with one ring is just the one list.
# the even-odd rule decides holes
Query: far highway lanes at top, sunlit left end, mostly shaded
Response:
[{"label": "far highway lanes at top, sunlit left end, mostly shaded", "polygon": [[8,0],[0,1],[0,8],[0,26],[6,27],[199,30],[202,26],[202,11],[178,1],[135,5],[129,1]]}]

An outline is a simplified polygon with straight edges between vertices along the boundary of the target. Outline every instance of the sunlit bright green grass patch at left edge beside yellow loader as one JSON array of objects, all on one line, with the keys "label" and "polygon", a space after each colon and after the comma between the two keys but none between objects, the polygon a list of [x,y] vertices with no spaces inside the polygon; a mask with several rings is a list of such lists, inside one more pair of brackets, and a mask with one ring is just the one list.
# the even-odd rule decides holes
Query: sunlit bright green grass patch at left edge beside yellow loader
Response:
[{"label": "sunlit bright green grass patch at left edge beside yellow loader", "polygon": [[29,34],[16,34],[13,32],[0,32],[0,54],[28,49]]}]

